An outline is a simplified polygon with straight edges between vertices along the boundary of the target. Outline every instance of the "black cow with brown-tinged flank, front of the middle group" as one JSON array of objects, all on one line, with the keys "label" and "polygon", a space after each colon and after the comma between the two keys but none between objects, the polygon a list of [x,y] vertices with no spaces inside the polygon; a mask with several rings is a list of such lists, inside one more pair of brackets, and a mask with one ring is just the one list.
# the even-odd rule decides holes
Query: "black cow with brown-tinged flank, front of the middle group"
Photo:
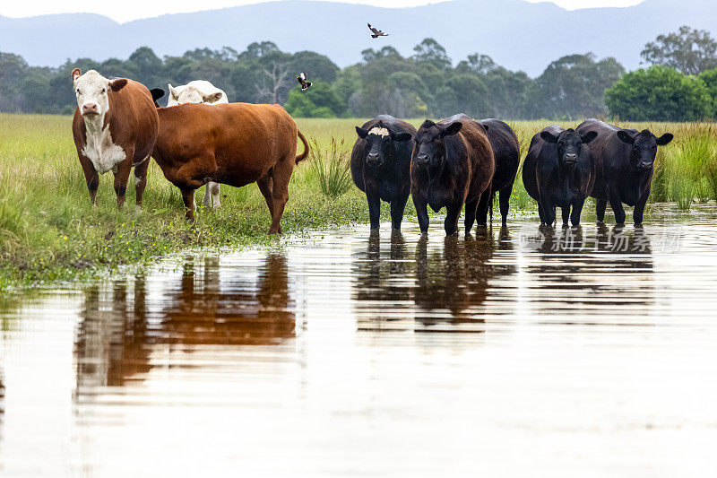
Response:
[{"label": "black cow with brown-tinged flank, front of the middle group", "polygon": [[456,233],[465,204],[468,234],[481,196],[490,195],[495,172],[493,149],[477,121],[463,114],[438,123],[427,119],[416,133],[410,161],[410,194],[421,232],[428,233],[430,205],[436,213],[445,207],[445,233]]}]

